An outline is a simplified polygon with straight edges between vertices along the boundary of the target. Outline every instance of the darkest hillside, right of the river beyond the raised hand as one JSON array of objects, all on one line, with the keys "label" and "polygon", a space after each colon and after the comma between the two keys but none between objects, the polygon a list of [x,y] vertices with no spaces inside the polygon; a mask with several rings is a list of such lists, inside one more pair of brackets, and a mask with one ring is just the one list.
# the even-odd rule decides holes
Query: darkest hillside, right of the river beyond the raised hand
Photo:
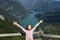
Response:
[{"label": "darkest hillside, right of the river beyond the raised hand", "polygon": [[60,23],[60,12],[46,12],[45,14],[35,15],[37,20],[43,19],[48,23]]}]

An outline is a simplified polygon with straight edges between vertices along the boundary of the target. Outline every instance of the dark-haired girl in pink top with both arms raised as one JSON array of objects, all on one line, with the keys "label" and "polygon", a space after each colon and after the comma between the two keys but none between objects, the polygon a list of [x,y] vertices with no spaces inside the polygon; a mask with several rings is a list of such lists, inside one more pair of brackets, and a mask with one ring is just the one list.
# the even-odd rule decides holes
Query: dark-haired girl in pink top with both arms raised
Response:
[{"label": "dark-haired girl in pink top with both arms raised", "polygon": [[33,32],[37,28],[39,24],[41,24],[43,20],[40,20],[33,28],[31,25],[27,26],[27,29],[24,29],[21,25],[19,25],[17,22],[13,22],[14,25],[20,27],[26,34],[26,40],[33,40]]}]

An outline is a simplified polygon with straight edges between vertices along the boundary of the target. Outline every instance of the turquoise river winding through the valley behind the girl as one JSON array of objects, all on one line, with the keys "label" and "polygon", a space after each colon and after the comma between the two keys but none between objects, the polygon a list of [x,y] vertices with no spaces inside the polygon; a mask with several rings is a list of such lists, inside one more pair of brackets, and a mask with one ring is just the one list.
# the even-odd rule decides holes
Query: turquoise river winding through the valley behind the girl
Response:
[{"label": "turquoise river winding through the valley behind the girl", "polygon": [[39,13],[43,14],[43,12],[35,12],[35,11],[33,11],[32,13],[30,13],[29,15],[27,15],[23,19],[19,19],[19,24],[22,25],[24,28],[26,28],[26,26],[28,24],[31,24],[32,27],[34,27],[34,25],[38,22],[37,19],[35,18],[35,15],[39,14]]}]

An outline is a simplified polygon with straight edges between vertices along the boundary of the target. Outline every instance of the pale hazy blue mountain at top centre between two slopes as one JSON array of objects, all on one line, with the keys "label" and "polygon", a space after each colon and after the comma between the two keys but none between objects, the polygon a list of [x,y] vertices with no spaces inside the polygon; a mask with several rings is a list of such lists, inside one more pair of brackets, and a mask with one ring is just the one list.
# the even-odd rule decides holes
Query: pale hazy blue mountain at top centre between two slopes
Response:
[{"label": "pale hazy blue mountain at top centre between two slopes", "polygon": [[37,0],[20,0],[21,4],[26,8],[30,9]]}]

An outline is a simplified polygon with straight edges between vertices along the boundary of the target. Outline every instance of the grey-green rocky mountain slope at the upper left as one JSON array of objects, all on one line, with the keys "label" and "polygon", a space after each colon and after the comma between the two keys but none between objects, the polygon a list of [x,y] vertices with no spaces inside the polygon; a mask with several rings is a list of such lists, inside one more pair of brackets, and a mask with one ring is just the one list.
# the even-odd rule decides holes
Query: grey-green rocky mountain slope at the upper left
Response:
[{"label": "grey-green rocky mountain slope at the upper left", "polygon": [[29,12],[17,0],[0,0],[0,8],[15,18],[26,16]]}]

